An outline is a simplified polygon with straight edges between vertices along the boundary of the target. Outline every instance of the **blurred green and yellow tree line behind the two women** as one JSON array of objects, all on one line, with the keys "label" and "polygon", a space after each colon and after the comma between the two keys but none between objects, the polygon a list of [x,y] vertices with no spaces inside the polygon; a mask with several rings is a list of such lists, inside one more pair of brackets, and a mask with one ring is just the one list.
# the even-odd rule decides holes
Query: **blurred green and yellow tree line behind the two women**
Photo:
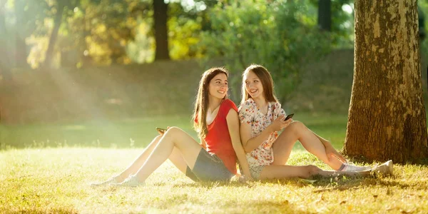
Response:
[{"label": "blurred green and yellow tree line behind the two women", "polygon": [[223,58],[288,91],[302,63],[352,48],[353,19],[352,0],[0,0],[0,70]]}]

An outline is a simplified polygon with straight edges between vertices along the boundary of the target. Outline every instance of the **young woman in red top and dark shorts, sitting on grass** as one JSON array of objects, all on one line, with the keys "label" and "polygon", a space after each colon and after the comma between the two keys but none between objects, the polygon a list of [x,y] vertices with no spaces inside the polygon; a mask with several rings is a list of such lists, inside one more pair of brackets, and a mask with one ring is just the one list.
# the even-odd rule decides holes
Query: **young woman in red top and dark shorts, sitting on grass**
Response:
[{"label": "young woman in red top and dark shorts, sitting on grass", "polygon": [[210,68],[200,79],[194,112],[199,144],[177,127],[157,136],[126,170],[93,185],[143,185],[166,159],[192,180],[230,180],[237,175],[237,159],[246,178],[251,178],[240,143],[238,108],[227,97],[228,71]]}]

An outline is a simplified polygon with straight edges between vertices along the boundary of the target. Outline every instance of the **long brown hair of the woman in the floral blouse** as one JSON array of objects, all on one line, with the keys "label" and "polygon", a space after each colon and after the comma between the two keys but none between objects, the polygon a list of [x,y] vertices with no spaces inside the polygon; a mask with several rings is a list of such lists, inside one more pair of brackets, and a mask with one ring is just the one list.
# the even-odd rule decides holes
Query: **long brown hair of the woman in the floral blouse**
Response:
[{"label": "long brown hair of the woman in the floral blouse", "polygon": [[241,104],[244,103],[248,98],[251,98],[250,94],[247,90],[245,90],[245,79],[244,76],[248,74],[248,72],[253,71],[255,75],[260,78],[260,82],[263,86],[263,95],[265,96],[265,100],[267,102],[277,102],[278,99],[275,96],[275,91],[273,91],[273,79],[270,76],[269,71],[263,66],[257,64],[251,64],[248,68],[245,68],[243,72],[243,87],[241,88],[242,100]]}]

